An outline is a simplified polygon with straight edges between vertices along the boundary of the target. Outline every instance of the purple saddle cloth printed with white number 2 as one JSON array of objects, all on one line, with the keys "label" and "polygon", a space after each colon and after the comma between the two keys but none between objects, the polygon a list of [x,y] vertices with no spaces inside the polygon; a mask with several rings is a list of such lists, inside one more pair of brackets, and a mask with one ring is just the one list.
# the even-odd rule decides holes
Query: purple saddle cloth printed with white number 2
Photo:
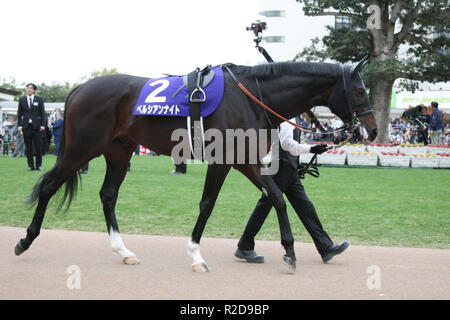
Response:
[{"label": "purple saddle cloth printed with white number 2", "polygon": [[[212,71],[214,72],[214,78],[203,87],[206,100],[200,103],[202,117],[213,113],[223,97],[222,66],[216,66],[212,68]],[[149,79],[141,89],[133,114],[188,117],[188,88],[185,80],[183,81],[183,76]]]}]

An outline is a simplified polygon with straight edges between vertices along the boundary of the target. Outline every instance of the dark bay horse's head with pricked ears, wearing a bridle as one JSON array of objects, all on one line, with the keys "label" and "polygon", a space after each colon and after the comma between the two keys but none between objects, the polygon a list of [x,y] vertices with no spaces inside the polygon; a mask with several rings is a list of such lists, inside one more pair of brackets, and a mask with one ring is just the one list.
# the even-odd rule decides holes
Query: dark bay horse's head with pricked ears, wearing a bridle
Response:
[{"label": "dark bay horse's head with pricked ears, wearing a bridle", "polygon": [[378,133],[377,123],[370,108],[366,87],[359,74],[367,61],[366,56],[356,65],[341,67],[342,75],[330,96],[328,107],[344,123],[351,126],[360,138],[367,137],[373,141]]}]

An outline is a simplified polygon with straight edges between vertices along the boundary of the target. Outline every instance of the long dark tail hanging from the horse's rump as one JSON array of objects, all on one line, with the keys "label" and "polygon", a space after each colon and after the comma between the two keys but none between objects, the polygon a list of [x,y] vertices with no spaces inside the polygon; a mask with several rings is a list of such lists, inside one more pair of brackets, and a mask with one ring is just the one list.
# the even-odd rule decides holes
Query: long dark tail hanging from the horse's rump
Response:
[{"label": "long dark tail hanging from the horse's rump", "polygon": [[[66,98],[66,101],[64,103],[63,127],[62,127],[62,135],[61,135],[61,141],[60,141],[59,151],[58,151],[58,158],[56,159],[56,163],[53,166],[53,168],[50,169],[45,174],[43,174],[38,179],[36,184],[34,185],[33,190],[31,191],[31,194],[28,196],[28,200],[27,200],[27,203],[30,204],[31,207],[33,207],[39,200],[39,195],[41,193],[43,182],[47,179],[51,179],[51,177],[53,176],[53,174],[55,172],[55,169],[62,161],[62,157],[63,157],[65,149],[66,149],[66,118],[67,118],[68,101],[69,101],[69,98],[71,97],[71,95],[79,87],[80,86],[73,89]],[[80,176],[80,173],[78,172],[78,170],[75,174],[73,174],[69,179],[66,180],[64,195],[58,204],[58,207],[56,209],[57,212],[62,209],[62,207],[64,206],[64,203],[66,201],[67,201],[67,206],[66,206],[65,211],[67,211],[69,209],[70,204],[72,203],[72,200],[75,198],[75,196],[77,194],[79,180],[81,182],[81,176]]]}]

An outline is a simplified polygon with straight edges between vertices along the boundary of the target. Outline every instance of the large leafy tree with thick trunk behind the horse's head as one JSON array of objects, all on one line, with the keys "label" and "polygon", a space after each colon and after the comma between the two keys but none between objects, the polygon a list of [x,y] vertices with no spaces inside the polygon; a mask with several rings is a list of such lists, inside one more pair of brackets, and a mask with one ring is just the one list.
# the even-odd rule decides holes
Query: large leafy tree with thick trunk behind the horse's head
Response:
[{"label": "large leafy tree with thick trunk behind the horse's head", "polygon": [[[356,62],[369,54],[362,77],[379,129],[387,142],[394,81],[414,91],[417,81],[450,80],[450,6],[448,0],[297,0],[307,16],[351,18],[349,28],[327,27],[294,60]],[[403,52],[404,51],[404,52]]]}]

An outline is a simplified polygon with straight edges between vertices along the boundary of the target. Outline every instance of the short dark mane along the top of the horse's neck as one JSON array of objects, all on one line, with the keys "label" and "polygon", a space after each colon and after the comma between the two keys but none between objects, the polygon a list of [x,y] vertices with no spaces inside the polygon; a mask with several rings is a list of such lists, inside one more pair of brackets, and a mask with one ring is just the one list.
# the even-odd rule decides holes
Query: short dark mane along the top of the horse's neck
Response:
[{"label": "short dark mane along the top of the horse's neck", "polygon": [[230,68],[237,74],[258,78],[300,74],[335,78],[341,74],[339,65],[317,62],[276,62],[259,64],[253,67],[231,64]]}]

